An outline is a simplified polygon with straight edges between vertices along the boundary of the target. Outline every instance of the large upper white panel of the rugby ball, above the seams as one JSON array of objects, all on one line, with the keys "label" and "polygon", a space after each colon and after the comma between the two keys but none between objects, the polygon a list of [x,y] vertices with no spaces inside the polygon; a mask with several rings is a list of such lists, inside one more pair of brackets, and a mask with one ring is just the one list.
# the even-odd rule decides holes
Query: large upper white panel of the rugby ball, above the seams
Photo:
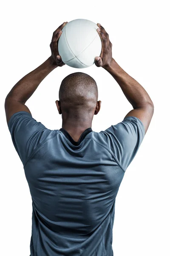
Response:
[{"label": "large upper white panel of the rugby ball, above the seams", "polygon": [[66,40],[75,56],[83,52],[98,35],[98,26],[91,20],[71,20],[64,27]]}]

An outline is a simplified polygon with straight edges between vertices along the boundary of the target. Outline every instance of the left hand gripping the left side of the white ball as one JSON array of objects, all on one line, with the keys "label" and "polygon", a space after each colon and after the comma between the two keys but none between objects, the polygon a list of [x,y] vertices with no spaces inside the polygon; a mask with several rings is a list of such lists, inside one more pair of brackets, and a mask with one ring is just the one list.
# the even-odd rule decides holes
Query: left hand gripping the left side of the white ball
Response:
[{"label": "left hand gripping the left side of the white ball", "polygon": [[50,44],[50,48],[51,48],[51,61],[54,65],[57,65],[59,67],[62,67],[63,65],[65,65],[65,63],[62,61],[61,56],[59,55],[58,52],[58,40],[59,37],[62,34],[62,28],[67,24],[68,22],[64,22],[62,23],[62,25],[60,25],[58,27],[58,29],[56,29],[53,33],[53,37],[51,40],[51,44]]}]

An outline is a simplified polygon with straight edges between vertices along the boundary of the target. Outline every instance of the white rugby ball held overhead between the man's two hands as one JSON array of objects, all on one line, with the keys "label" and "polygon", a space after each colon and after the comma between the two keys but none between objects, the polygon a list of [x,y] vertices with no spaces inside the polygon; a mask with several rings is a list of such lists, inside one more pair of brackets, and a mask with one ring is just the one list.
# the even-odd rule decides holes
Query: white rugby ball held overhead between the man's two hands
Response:
[{"label": "white rugby ball held overhead between the man's two hands", "polygon": [[70,67],[85,68],[94,64],[100,56],[102,41],[91,20],[77,19],[68,22],[62,29],[58,51],[62,61]]}]

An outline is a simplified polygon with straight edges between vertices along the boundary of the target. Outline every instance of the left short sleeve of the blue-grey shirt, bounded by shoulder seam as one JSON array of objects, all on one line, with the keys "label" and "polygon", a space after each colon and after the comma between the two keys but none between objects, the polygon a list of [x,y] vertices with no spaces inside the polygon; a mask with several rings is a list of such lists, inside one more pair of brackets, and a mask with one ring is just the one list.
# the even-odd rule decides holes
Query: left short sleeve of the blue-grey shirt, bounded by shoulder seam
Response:
[{"label": "left short sleeve of the blue-grey shirt, bounded by shoulder seam", "polygon": [[8,129],[23,166],[36,148],[51,134],[51,130],[37,122],[26,111],[14,113],[9,119]]}]

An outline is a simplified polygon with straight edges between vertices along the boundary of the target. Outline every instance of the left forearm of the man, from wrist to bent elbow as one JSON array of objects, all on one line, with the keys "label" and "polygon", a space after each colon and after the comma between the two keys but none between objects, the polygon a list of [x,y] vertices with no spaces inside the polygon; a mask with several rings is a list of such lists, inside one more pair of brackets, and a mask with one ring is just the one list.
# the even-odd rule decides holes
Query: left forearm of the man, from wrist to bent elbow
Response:
[{"label": "left forearm of the man, from wrist to bent elbow", "polygon": [[51,57],[49,57],[39,67],[20,79],[20,81],[12,87],[6,99],[12,98],[25,104],[41,81],[56,67],[57,65],[55,65],[51,61]]}]

